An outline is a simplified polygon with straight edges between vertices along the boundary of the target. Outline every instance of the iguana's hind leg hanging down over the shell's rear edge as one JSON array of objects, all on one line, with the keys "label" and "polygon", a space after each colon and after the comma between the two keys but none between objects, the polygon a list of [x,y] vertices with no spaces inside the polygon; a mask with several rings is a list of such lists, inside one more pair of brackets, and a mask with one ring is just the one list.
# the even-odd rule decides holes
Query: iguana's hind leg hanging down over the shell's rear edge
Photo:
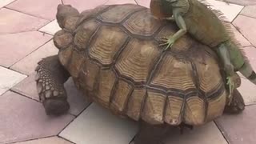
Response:
[{"label": "iguana's hind leg hanging down over the shell's rear edge", "polygon": [[218,54],[219,57],[221,58],[223,65],[224,65],[224,70],[227,74],[227,85],[229,85],[229,89],[230,89],[230,102],[232,99],[232,92],[234,90],[234,81],[233,81],[233,76],[234,76],[234,66],[232,65],[231,61],[230,61],[230,52],[228,50],[228,48],[225,46],[225,44],[221,44],[220,46],[218,46]]}]

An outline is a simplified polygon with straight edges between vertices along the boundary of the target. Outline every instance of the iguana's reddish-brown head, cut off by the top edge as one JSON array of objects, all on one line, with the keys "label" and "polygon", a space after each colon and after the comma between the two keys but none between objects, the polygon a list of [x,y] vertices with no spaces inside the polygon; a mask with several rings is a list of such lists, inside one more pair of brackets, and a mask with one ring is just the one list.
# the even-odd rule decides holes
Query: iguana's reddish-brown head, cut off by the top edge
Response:
[{"label": "iguana's reddish-brown head, cut off by the top edge", "polygon": [[150,10],[156,18],[169,18],[173,15],[172,3],[178,0],[151,0]]}]

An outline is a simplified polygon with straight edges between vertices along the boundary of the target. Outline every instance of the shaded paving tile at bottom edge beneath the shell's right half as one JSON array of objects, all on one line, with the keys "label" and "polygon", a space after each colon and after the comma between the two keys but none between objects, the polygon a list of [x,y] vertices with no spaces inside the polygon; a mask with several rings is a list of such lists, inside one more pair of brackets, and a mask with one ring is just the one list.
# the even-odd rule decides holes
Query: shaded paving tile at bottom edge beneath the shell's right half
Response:
[{"label": "shaded paving tile at bottom edge beneath the shell's right half", "polygon": [[222,133],[214,122],[206,125],[194,127],[194,130],[185,129],[184,134],[180,134],[180,130],[174,129],[170,131],[165,144],[228,144]]}]

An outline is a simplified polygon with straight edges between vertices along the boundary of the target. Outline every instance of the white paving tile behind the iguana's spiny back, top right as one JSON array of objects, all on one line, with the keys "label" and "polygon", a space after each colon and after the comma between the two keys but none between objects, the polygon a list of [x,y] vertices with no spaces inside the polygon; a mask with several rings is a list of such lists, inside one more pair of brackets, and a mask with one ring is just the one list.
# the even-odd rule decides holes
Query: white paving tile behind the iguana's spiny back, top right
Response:
[{"label": "white paving tile behind the iguana's spiny back, top right", "polygon": [[232,22],[243,8],[243,6],[227,4],[226,2],[219,2],[216,0],[206,0],[206,2],[209,2],[210,5],[212,5],[210,7],[212,7],[214,10],[222,11],[229,22]]}]

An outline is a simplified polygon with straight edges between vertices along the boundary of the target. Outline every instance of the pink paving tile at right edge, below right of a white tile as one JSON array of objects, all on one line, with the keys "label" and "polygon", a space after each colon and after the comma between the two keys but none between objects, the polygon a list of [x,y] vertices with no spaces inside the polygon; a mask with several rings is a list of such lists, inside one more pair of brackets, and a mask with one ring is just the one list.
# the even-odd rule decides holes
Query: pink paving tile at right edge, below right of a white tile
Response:
[{"label": "pink paving tile at right edge, below right of a white tile", "polygon": [[254,45],[256,46],[256,18],[249,18],[239,15],[233,22],[233,25]]}]

